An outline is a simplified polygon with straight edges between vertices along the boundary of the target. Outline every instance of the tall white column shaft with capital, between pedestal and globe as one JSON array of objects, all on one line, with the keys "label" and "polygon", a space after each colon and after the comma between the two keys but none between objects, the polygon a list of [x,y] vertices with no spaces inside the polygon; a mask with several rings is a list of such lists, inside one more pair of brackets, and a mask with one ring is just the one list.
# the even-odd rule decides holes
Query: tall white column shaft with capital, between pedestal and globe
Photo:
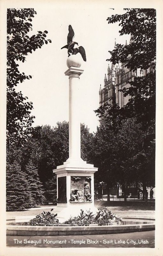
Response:
[{"label": "tall white column shaft with capital, between pedestal and globe", "polygon": [[69,76],[69,158],[68,162],[81,161],[81,128],[80,128],[80,94],[79,79],[83,70],[69,68],[65,75]]}]

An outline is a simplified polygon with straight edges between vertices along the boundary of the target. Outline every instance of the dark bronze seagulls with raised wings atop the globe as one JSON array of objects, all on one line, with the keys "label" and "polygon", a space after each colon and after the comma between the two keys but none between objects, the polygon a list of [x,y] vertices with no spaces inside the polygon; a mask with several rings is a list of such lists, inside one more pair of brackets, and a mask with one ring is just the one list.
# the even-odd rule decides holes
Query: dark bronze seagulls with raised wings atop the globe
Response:
[{"label": "dark bronze seagulls with raised wings atop the globe", "polygon": [[71,25],[68,26],[68,36],[67,36],[67,45],[63,46],[63,48],[68,49],[68,57],[72,54],[77,54],[78,52],[81,54],[81,57],[84,61],[86,61],[86,54],[85,50],[82,46],[79,46],[78,48],[74,48],[74,45],[78,43],[73,41],[74,38],[74,30]]}]

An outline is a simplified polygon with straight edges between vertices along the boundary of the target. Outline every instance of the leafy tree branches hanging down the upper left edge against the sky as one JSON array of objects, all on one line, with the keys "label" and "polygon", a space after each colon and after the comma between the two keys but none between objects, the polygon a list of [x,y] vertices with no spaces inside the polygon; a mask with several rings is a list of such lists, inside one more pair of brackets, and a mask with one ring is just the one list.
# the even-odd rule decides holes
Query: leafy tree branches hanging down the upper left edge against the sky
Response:
[{"label": "leafy tree branches hanging down the upper left edge against the sky", "polygon": [[24,62],[28,53],[32,53],[43,44],[47,44],[46,30],[38,31],[29,37],[32,30],[34,9],[7,9],[7,142],[8,144],[23,143],[31,132],[34,116],[31,116],[32,102],[15,87],[31,75],[22,74],[18,70],[18,61]]}]

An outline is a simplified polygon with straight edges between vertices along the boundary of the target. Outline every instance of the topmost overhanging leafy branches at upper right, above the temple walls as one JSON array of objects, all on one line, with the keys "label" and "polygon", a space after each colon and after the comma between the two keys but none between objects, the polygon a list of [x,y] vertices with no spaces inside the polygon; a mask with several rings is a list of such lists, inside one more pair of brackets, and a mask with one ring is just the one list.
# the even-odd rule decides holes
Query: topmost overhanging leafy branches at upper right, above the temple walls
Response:
[{"label": "topmost overhanging leafy branches at upper right, above the temple walls", "polygon": [[[121,35],[131,34],[131,44],[117,44],[109,59],[113,64],[126,63],[131,70],[155,67],[156,60],[156,10],[128,9],[124,14],[112,15],[108,24],[119,22]],[[127,58],[130,56],[130,58]]]}]

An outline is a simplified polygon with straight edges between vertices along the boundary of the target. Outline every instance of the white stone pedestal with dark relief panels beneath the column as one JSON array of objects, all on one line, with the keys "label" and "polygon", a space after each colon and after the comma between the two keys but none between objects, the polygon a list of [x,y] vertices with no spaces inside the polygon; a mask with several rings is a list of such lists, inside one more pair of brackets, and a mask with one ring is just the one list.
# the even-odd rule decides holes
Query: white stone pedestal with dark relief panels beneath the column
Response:
[{"label": "white stone pedestal with dark relief panels beneath the column", "polygon": [[67,159],[53,170],[57,175],[57,218],[67,220],[70,216],[78,216],[81,209],[97,212],[94,207],[94,173],[97,169],[82,159]]}]

